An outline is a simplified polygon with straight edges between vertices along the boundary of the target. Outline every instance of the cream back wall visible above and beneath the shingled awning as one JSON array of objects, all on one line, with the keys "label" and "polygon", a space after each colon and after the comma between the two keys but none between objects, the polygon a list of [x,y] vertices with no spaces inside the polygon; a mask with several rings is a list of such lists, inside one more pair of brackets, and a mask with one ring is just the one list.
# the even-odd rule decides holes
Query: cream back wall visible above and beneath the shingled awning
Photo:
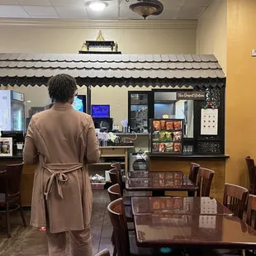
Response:
[{"label": "cream back wall visible above and beneath the shingled awning", "polygon": [[[15,23],[15,24],[13,24]],[[14,26],[15,25],[15,26]],[[84,40],[115,40],[123,54],[195,54],[195,21],[0,21],[2,52],[78,53]],[[15,88],[31,100],[28,107],[45,106],[46,88]],[[80,88],[81,89],[81,88]],[[128,116],[128,90],[92,88],[92,104],[111,104],[116,124]],[[86,89],[81,89],[86,94]]]}]

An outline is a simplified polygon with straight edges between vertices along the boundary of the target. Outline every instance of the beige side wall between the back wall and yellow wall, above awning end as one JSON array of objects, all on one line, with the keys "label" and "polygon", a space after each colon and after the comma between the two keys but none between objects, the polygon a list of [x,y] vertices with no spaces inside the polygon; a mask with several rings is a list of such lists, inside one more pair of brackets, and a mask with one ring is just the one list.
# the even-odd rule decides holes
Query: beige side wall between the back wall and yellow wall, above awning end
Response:
[{"label": "beige side wall between the back wall and yellow wall, above awning end", "polygon": [[226,0],[214,0],[197,25],[197,54],[214,54],[226,73]]}]

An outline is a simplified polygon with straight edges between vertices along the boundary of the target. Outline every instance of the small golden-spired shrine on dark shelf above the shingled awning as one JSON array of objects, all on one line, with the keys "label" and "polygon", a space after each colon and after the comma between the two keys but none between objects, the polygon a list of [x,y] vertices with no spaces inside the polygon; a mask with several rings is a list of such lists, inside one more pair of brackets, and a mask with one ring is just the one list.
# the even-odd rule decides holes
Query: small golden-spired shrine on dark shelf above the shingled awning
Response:
[{"label": "small golden-spired shrine on dark shelf above the shingled awning", "polygon": [[121,51],[118,51],[117,43],[113,40],[105,40],[102,31],[99,31],[96,40],[86,40],[83,43],[82,49],[79,50],[79,54],[120,55]]}]

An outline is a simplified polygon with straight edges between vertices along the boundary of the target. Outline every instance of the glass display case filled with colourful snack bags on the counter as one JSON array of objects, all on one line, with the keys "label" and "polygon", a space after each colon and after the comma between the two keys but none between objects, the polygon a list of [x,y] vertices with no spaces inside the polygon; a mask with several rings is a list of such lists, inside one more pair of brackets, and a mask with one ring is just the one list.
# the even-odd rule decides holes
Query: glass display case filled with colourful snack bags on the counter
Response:
[{"label": "glass display case filled with colourful snack bags on the counter", "polygon": [[151,154],[183,154],[183,119],[150,119]]}]

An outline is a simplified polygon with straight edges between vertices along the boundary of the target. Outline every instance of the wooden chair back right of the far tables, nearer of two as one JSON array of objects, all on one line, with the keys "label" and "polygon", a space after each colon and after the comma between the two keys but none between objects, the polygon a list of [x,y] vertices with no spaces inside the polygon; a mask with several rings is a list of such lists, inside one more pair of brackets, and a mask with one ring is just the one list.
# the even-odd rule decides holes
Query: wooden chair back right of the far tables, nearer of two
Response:
[{"label": "wooden chair back right of the far tables, nearer of two", "polygon": [[197,178],[197,197],[210,197],[211,182],[214,171],[207,168],[199,168]]}]

